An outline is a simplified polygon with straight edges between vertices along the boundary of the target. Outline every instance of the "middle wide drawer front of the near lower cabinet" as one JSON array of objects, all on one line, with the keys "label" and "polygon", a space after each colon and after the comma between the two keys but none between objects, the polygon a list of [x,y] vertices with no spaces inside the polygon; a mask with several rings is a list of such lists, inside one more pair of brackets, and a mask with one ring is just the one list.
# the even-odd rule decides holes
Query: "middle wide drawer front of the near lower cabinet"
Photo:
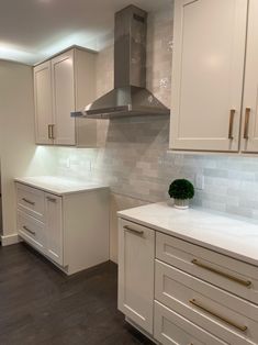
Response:
[{"label": "middle wide drawer front of the near lower cabinet", "polygon": [[155,299],[225,342],[258,343],[258,305],[158,260]]}]

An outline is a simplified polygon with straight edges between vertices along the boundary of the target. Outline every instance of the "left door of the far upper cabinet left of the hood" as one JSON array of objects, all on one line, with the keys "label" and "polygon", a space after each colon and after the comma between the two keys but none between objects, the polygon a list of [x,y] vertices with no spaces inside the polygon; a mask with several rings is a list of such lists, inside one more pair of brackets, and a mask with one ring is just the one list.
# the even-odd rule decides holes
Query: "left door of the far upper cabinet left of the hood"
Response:
[{"label": "left door of the far upper cabinet left of the hood", "polygon": [[34,102],[36,143],[53,144],[52,125],[52,73],[51,62],[34,68]]}]

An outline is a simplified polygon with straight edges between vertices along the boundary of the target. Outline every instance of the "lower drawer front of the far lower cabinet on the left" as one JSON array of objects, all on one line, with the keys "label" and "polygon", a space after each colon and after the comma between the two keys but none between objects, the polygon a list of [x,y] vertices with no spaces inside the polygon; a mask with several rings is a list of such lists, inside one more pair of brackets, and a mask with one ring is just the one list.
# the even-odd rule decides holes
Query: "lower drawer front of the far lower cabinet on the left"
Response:
[{"label": "lower drawer front of the far lower cabinet on the left", "polygon": [[45,252],[46,234],[44,224],[18,210],[18,233],[36,249]]}]

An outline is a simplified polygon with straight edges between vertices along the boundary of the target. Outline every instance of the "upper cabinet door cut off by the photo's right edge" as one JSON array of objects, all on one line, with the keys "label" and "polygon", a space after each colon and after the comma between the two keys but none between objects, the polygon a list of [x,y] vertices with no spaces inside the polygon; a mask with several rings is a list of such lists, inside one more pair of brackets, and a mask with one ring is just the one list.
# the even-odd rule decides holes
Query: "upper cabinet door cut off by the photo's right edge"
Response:
[{"label": "upper cabinet door cut off by the photo's right edge", "polygon": [[258,153],[258,1],[249,1],[242,151]]}]

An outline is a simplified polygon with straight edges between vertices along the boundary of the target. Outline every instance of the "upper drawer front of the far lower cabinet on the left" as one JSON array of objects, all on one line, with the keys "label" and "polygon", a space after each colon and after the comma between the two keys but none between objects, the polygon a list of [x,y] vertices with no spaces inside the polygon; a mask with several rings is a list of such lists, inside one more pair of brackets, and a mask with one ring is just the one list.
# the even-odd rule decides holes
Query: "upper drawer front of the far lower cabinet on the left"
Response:
[{"label": "upper drawer front of the far lower cabinet on the left", "polygon": [[36,189],[16,183],[18,209],[36,218],[44,220],[44,192]]}]

